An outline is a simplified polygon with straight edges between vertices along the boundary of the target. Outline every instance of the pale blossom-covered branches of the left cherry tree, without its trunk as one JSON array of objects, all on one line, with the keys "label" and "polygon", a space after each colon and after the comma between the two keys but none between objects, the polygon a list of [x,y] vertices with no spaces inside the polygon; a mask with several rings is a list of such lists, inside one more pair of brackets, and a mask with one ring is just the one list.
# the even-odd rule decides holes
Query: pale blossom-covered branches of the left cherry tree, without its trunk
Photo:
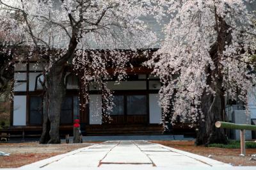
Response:
[{"label": "pale blossom-covered branches of the left cherry tree, without its trunk", "polygon": [[[76,59],[73,59],[72,65],[79,72],[78,70],[84,70],[81,62],[86,56],[77,55],[81,51],[136,50],[154,45],[155,33],[141,20],[141,17],[156,13],[157,8],[152,6],[154,3],[156,4],[156,1],[151,3],[141,0],[1,0],[0,21],[8,22],[10,26],[0,26],[0,31],[8,29],[9,34],[22,37],[22,45],[29,49],[28,55],[25,55],[28,59],[35,58],[37,54],[36,59],[42,62],[47,56],[49,64],[44,68],[45,77],[51,72],[52,66],[65,67],[74,56]],[[96,54],[90,55],[93,62],[86,65],[90,73],[84,73],[83,85],[87,86],[92,77],[94,81],[101,80],[102,73],[103,77],[106,77],[110,61],[116,66],[114,74],[119,75],[118,80],[124,78],[124,68],[129,59],[118,52],[115,54],[115,57],[109,59]],[[105,86],[104,82],[98,82]],[[104,91],[111,95],[109,89],[104,88]],[[105,96],[107,99],[108,95]]]}]

